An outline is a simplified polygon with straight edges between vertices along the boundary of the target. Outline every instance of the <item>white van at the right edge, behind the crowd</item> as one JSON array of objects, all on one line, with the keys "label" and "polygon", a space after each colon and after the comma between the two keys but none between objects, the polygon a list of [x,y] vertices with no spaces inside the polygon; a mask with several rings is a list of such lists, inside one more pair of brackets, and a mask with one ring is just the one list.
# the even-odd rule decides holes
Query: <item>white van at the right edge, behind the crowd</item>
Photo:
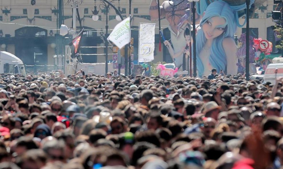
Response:
[{"label": "white van at the right edge, behind the crowd", "polygon": [[275,84],[278,77],[283,77],[283,63],[269,64],[265,70],[263,80]]}]

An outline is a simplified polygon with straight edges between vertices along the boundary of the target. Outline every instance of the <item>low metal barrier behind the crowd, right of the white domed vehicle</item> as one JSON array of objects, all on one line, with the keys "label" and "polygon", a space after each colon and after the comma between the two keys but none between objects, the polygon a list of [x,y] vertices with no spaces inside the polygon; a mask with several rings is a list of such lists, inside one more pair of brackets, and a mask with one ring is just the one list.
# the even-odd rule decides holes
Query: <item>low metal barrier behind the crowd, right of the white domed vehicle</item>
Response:
[{"label": "low metal barrier behind the crowd, right of the white domed vehicle", "polygon": [[50,73],[53,70],[64,71],[64,65],[25,65],[27,74],[38,75],[40,73]]}]

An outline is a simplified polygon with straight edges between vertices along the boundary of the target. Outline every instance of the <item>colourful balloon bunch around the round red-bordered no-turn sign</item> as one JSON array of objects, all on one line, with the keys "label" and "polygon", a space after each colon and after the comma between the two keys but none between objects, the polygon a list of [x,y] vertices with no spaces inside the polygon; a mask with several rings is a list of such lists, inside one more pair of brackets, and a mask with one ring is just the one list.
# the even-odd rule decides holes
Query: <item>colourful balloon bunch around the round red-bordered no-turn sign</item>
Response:
[{"label": "colourful balloon bunch around the round red-bordered no-turn sign", "polygon": [[[261,46],[264,46],[264,48]],[[262,38],[258,38],[254,39],[253,47],[256,50],[256,64],[260,65],[258,70],[264,71],[266,67],[272,63],[272,59],[274,58],[270,55],[270,52],[272,51],[272,43],[267,40],[263,40]]]}]

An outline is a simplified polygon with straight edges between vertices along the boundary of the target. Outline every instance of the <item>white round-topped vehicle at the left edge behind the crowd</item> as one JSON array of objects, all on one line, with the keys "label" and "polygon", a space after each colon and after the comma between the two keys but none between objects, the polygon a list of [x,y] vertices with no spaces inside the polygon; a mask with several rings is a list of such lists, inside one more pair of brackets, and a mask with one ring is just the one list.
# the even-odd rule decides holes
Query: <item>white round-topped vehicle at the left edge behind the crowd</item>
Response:
[{"label": "white round-topped vehicle at the left edge behind the crowd", "polygon": [[0,51],[0,73],[20,73],[26,75],[23,61],[6,51]]}]

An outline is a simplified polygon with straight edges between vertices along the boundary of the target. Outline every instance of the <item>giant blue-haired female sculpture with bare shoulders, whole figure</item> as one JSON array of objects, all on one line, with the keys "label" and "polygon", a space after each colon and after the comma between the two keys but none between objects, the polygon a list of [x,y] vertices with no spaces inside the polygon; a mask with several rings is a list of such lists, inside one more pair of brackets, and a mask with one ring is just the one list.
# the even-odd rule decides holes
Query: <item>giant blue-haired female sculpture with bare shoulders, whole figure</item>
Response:
[{"label": "giant blue-haired female sculpture with bare shoulders, whole figure", "polygon": [[[243,7],[232,7],[222,0],[209,5],[207,0],[200,1],[198,12],[205,12],[200,22],[202,29],[196,37],[198,76],[207,76],[212,68],[217,71],[222,69],[227,74],[237,73],[234,34],[237,26],[241,26],[237,11]],[[221,25],[218,25],[220,23]]]}]

